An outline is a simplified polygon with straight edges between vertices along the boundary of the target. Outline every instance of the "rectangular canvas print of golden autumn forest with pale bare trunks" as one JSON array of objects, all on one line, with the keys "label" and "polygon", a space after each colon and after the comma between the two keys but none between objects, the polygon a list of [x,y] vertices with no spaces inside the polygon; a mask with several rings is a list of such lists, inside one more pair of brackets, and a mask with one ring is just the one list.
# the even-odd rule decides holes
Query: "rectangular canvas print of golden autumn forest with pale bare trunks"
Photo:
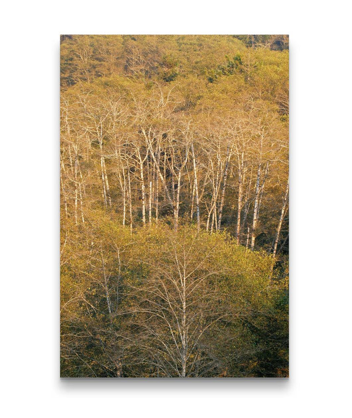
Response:
[{"label": "rectangular canvas print of golden autumn forest with pale bare trunks", "polygon": [[288,36],[61,36],[61,377],[288,377]]}]

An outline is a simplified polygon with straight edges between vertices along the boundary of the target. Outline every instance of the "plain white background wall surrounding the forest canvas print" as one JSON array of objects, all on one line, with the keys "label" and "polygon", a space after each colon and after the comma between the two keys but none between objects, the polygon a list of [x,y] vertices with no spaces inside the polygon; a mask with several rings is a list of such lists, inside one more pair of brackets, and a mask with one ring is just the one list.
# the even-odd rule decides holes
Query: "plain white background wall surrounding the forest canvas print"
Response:
[{"label": "plain white background wall surrounding the forest canvas print", "polygon": [[[2,5],[2,416],[351,413],[347,4],[33,0]],[[77,33],[290,35],[289,379],[60,380],[59,35]]]}]

